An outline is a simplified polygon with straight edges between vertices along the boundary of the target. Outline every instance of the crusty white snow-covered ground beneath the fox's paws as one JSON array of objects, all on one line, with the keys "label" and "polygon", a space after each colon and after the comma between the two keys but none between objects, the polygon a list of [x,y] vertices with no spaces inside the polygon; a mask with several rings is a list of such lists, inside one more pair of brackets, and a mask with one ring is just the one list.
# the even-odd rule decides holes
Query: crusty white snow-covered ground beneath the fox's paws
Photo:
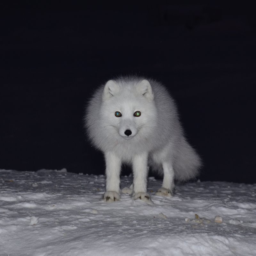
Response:
[{"label": "crusty white snow-covered ground beneath the fox's paws", "polygon": [[152,205],[104,203],[102,175],[0,170],[0,255],[256,255],[256,184],[194,182],[172,198],[160,187],[148,179]]}]

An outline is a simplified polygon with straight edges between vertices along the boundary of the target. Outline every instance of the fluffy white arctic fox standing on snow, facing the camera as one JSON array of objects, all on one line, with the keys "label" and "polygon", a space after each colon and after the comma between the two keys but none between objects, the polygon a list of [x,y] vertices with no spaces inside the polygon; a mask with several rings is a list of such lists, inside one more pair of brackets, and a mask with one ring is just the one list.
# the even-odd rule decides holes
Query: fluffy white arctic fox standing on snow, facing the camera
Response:
[{"label": "fluffy white arctic fox standing on snow, facing the camera", "polygon": [[134,199],[150,200],[149,166],[164,175],[156,195],[171,197],[175,180],[198,173],[200,157],[184,137],[174,100],[152,79],[118,77],[102,85],[86,108],[85,127],[106,162],[105,202],[120,199],[121,164],[132,165]]}]

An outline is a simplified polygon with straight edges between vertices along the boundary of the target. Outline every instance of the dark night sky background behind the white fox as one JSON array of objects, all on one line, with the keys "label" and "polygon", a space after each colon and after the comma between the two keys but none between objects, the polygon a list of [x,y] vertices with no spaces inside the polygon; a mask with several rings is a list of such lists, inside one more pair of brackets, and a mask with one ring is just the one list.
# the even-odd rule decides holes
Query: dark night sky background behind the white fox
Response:
[{"label": "dark night sky background behind the white fox", "polygon": [[0,6],[0,168],[103,174],[84,135],[86,100],[138,74],[177,101],[200,180],[256,182],[252,6],[20,2]]}]

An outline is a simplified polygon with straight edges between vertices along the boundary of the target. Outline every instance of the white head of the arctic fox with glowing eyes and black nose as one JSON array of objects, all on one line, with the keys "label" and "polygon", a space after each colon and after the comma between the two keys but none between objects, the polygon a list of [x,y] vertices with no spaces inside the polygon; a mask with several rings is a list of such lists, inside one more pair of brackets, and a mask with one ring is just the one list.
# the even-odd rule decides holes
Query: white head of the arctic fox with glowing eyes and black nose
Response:
[{"label": "white head of the arctic fox with glowing eyes and black nose", "polygon": [[102,94],[101,118],[106,136],[121,140],[147,139],[155,125],[154,93],[148,80],[109,80]]}]

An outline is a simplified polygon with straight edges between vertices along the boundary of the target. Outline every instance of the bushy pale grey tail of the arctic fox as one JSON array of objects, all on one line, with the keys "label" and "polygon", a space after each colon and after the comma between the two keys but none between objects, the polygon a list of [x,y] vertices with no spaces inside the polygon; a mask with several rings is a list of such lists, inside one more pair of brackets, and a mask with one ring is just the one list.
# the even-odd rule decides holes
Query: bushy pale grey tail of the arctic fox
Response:
[{"label": "bushy pale grey tail of the arctic fox", "polygon": [[201,166],[202,161],[196,150],[188,144],[185,138],[182,138],[180,150],[177,151],[173,163],[175,179],[185,181],[195,178]]}]

